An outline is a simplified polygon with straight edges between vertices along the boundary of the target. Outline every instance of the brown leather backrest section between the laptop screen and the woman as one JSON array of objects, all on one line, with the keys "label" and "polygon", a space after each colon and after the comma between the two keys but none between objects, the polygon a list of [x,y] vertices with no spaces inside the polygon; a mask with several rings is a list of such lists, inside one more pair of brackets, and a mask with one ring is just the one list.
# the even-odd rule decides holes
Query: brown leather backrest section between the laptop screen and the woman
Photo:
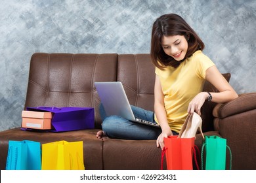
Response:
[{"label": "brown leather backrest section between the laptop screen and the woman", "polygon": [[131,105],[154,110],[154,73],[150,54],[118,56],[117,81],[122,82]]}]

